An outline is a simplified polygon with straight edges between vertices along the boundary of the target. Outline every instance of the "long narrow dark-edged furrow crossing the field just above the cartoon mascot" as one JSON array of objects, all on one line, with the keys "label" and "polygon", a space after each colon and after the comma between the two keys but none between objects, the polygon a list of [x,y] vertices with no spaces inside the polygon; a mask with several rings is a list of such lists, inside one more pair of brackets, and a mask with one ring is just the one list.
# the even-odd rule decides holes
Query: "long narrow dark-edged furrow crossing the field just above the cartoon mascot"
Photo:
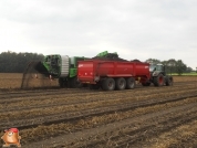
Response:
[{"label": "long narrow dark-edged furrow crossing the field just above the cartoon mascot", "polygon": [[97,107],[97,108],[92,108],[92,109],[84,109],[80,112],[71,112],[71,113],[61,113],[58,115],[43,115],[38,116],[38,117],[31,117],[27,119],[15,119],[13,121],[2,121],[0,123],[1,129],[6,129],[8,127],[18,127],[20,129],[24,128],[30,128],[30,127],[37,127],[39,125],[50,125],[50,124],[59,124],[63,121],[69,121],[69,120],[77,120],[81,118],[85,117],[91,117],[91,116],[100,116],[103,114],[111,114],[114,112],[125,112],[125,110],[131,110],[135,109],[137,107],[146,107],[146,106],[153,106],[153,105],[158,105],[158,104],[166,104],[170,102],[177,102],[182,101],[188,97],[197,97],[197,94],[190,94],[186,96],[178,96],[178,97],[172,97],[172,98],[157,98],[153,101],[142,101],[142,102],[136,102],[136,103],[127,103],[127,104],[118,104],[118,105],[111,105],[111,106],[105,106],[105,107]]}]

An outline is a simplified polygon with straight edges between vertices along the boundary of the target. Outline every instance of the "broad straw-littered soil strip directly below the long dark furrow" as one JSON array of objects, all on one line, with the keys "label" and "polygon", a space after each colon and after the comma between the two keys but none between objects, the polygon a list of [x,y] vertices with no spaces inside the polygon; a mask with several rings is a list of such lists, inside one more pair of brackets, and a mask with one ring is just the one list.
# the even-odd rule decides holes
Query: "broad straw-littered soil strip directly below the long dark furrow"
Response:
[{"label": "broad straw-littered soil strip directly below the long dark furrow", "polygon": [[[60,123],[60,124],[55,124],[55,125],[53,124],[48,126],[42,125],[37,128],[33,128],[33,131],[32,129],[24,129],[21,131],[21,134],[25,136],[27,140],[31,140],[31,141],[37,140],[39,137],[43,138],[41,137],[41,135],[46,135],[48,137],[51,137],[52,135],[54,136],[54,135],[64,134],[64,136],[60,136],[60,137],[58,136],[52,140],[46,140],[48,144],[46,147],[49,146],[72,147],[73,144],[75,144],[73,147],[76,146],[86,147],[87,144],[89,146],[91,146],[92,144],[103,146],[103,142],[104,146],[106,146],[107,144],[106,140],[112,138],[113,136],[115,137],[116,131],[118,131],[120,129],[127,130],[126,128],[128,129],[134,128],[134,129],[138,129],[139,131],[144,131],[142,129],[143,125],[147,127],[147,129],[149,126],[155,127],[155,124],[159,121],[163,121],[163,124],[165,125],[166,121],[168,123],[168,119],[182,118],[182,114],[186,113],[185,110],[187,110],[187,115],[185,115],[185,117],[191,118],[191,116],[188,115],[193,115],[194,113],[196,113],[197,109],[195,107],[196,105],[197,105],[196,98],[187,98],[174,103],[166,103],[166,104],[141,107],[141,108],[123,110],[123,112],[115,112],[111,114],[104,114],[101,116],[93,116],[84,119],[79,119],[77,121],[75,120],[73,123],[72,121],[64,123],[64,124]],[[187,119],[185,119],[185,121]],[[33,134],[33,137],[29,137],[28,136],[29,133]],[[133,135],[135,136],[137,135],[137,133],[134,131]],[[75,137],[74,139],[72,139],[73,136]],[[62,144],[63,141],[60,141],[60,139],[62,138],[66,139],[64,141],[66,144]],[[117,140],[120,140],[120,138],[115,139],[115,141]],[[52,141],[55,141],[55,144],[52,145]],[[40,144],[42,144],[42,141],[35,142],[34,146],[38,146]]]}]

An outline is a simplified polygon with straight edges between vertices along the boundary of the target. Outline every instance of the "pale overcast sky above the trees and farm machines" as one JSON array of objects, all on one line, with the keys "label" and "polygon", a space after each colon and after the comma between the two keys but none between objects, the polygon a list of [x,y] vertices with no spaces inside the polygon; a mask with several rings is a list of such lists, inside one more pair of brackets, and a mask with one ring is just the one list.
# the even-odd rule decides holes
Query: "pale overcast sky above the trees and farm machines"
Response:
[{"label": "pale overcast sky above the trees and farm machines", "polygon": [[197,66],[197,0],[0,0],[0,52],[126,60],[183,60]]}]

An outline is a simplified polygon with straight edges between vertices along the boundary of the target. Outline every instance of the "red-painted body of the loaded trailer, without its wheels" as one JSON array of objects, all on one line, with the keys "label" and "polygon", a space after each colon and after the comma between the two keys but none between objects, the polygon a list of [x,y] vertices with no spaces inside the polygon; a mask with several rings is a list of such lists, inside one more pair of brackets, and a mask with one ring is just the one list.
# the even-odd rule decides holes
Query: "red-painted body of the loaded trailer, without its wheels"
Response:
[{"label": "red-painted body of the loaded trailer, without its wheels", "polygon": [[101,61],[87,60],[79,61],[77,78],[82,83],[97,83],[95,77],[100,81],[104,77],[135,77],[137,81],[149,80],[149,64],[143,62],[120,62],[120,61]]}]

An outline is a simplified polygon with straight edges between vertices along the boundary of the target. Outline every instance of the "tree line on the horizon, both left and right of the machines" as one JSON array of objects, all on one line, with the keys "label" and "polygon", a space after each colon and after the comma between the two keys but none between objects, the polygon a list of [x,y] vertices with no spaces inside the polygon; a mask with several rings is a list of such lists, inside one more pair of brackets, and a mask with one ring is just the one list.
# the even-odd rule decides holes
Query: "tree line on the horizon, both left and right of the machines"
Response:
[{"label": "tree line on the horizon, both left and right of the machines", "polygon": [[[0,73],[23,73],[24,68],[31,61],[42,61],[43,54],[38,53],[15,53],[15,52],[2,52],[0,54]],[[159,61],[156,59],[146,60],[148,63],[162,63],[166,67],[167,73],[190,73],[191,67],[188,67],[182,60],[170,59],[168,61]]]}]

